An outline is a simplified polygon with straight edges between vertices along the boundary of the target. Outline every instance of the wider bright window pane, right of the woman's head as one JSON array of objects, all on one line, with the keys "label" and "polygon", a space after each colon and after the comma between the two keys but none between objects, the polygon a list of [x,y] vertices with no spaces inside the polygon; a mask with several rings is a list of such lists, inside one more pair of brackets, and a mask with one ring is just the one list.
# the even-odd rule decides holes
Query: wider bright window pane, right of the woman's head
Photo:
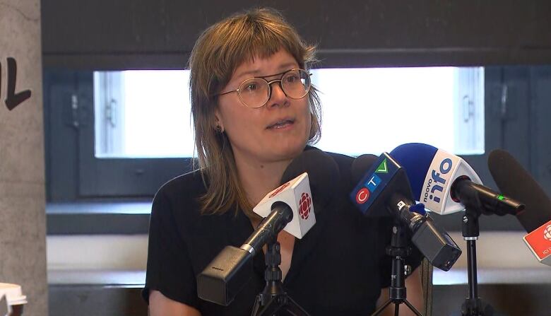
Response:
[{"label": "wider bright window pane, right of the woman's head", "polygon": [[420,142],[484,153],[482,68],[319,69],[326,151],[379,154]]}]

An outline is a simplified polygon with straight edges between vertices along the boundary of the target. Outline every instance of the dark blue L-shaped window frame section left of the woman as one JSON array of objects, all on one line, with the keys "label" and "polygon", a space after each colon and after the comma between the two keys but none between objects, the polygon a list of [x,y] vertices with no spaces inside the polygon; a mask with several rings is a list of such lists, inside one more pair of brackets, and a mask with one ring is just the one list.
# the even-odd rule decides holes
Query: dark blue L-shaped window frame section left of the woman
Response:
[{"label": "dark blue L-shaped window frame section left of the woman", "polygon": [[45,72],[48,201],[151,198],[191,171],[191,158],[95,158],[93,72]]}]

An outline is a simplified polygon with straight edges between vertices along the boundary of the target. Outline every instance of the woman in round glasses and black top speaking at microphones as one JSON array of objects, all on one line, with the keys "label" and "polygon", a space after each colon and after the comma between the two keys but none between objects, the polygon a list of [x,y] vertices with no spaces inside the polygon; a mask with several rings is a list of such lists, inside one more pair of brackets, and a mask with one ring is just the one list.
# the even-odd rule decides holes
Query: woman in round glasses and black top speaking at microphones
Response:
[{"label": "woman in round glasses and black top speaking at microphones", "polygon": [[[197,297],[196,275],[226,245],[242,245],[261,220],[252,207],[319,139],[312,62],[314,47],[268,9],[226,18],[197,40],[189,66],[200,169],[167,182],[153,201],[143,291],[151,315],[250,315],[265,284],[263,253],[227,307]],[[350,158],[333,158],[350,173]],[[346,202],[347,189],[338,186],[339,204],[316,214],[302,240],[278,235],[283,286],[311,315],[369,315],[379,294],[388,296],[381,288],[389,286],[391,223],[362,218]],[[409,300],[419,307],[414,276]]]}]

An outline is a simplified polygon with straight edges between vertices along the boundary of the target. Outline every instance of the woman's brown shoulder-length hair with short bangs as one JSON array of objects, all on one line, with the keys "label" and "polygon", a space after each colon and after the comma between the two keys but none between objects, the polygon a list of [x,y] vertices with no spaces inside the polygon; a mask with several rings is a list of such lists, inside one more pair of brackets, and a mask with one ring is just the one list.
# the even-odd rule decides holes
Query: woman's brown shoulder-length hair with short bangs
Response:
[{"label": "woman's brown shoulder-length hair with short bangs", "polygon": [[[278,11],[256,8],[211,25],[191,51],[191,114],[199,168],[208,184],[200,198],[203,213],[225,213],[235,205],[236,211],[242,209],[247,216],[256,216],[240,185],[230,141],[215,128],[216,94],[227,85],[237,66],[254,57],[270,57],[280,49],[295,57],[302,69],[308,70],[315,62],[315,47],[305,44]],[[314,144],[321,136],[321,105],[314,87],[308,100],[312,115],[308,144]]]}]

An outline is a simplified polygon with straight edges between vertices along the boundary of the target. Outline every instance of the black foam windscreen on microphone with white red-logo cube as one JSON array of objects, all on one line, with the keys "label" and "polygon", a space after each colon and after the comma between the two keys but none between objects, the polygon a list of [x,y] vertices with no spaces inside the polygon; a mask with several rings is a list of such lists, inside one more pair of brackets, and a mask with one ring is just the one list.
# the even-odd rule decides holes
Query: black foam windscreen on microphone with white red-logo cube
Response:
[{"label": "black foam windscreen on microphone with white red-logo cube", "polygon": [[[318,148],[303,151],[288,165],[281,183],[295,179],[302,173],[308,173],[314,210],[318,212],[331,201],[334,190],[338,187],[340,172],[338,165],[331,156]],[[321,206],[316,209],[316,206]]]}]

